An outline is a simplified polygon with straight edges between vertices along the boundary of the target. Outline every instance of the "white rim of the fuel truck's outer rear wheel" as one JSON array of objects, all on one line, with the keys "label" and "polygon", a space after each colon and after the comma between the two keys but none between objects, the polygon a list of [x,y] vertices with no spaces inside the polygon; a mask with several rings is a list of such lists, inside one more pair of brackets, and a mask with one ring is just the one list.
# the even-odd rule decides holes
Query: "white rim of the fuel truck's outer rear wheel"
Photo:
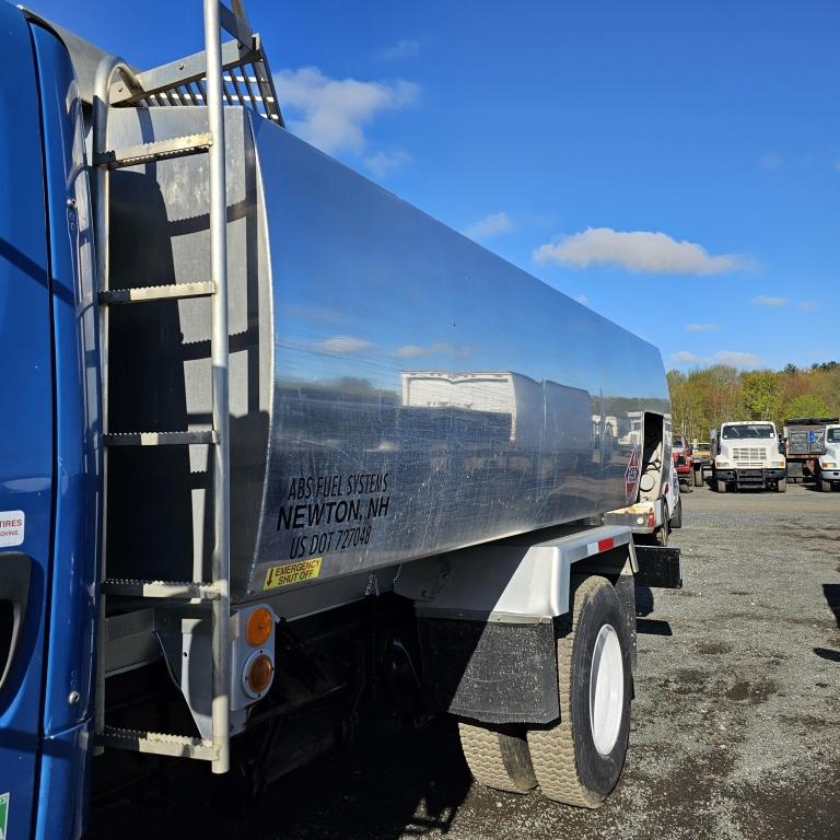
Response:
[{"label": "white rim of the fuel truck's outer rear wheel", "polygon": [[608,756],[618,740],[625,704],[625,663],[612,625],[604,625],[595,640],[590,676],[590,727],[595,749]]}]

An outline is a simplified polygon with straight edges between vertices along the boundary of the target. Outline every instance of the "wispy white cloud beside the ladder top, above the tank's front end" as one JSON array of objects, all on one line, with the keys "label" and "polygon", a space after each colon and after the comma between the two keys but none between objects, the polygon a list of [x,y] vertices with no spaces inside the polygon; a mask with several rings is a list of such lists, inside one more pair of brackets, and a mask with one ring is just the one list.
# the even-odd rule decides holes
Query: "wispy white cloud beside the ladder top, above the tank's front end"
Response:
[{"label": "wispy white cloud beside the ladder top, above the tank's front end", "polygon": [[289,129],[328,154],[362,154],[364,127],[381,112],[417,101],[412,82],[360,82],[330,79],[317,67],[275,73],[277,95],[288,115]]}]

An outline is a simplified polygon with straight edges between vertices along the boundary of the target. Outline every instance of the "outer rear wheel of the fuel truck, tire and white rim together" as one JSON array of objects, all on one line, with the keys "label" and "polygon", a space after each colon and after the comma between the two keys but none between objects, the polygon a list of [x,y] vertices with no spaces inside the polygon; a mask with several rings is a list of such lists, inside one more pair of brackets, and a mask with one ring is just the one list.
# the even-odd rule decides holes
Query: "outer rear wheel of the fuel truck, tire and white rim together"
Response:
[{"label": "outer rear wheel of the fuel truck, tire and white rim together", "polygon": [[560,722],[528,731],[534,772],[550,800],[596,808],[616,786],[630,733],[630,651],[618,595],[586,578],[557,644]]}]

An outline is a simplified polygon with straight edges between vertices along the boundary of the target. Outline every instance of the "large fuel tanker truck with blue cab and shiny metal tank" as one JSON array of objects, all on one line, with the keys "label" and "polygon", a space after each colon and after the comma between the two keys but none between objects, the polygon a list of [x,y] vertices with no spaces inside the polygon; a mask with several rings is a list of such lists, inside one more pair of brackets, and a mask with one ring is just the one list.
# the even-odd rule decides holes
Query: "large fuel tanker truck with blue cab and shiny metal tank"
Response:
[{"label": "large fuel tanker truck with blue cab and shiny metal tank", "polygon": [[4,840],[172,758],[258,794],[383,707],[595,807],[634,581],[680,585],[604,524],[667,488],[661,355],[292,136],[205,15],[139,72],[0,3]]}]

